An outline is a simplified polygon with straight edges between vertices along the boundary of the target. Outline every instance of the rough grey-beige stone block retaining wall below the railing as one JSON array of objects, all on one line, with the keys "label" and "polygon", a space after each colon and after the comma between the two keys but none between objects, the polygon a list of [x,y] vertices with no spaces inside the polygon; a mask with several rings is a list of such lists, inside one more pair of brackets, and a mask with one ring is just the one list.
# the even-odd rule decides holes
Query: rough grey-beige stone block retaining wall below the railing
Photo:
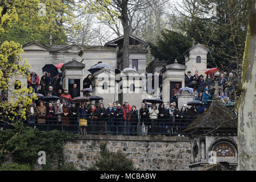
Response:
[{"label": "rough grey-beige stone block retaining wall below the railing", "polygon": [[67,162],[80,170],[92,167],[100,156],[100,143],[108,142],[112,152],[122,151],[139,170],[189,170],[191,143],[187,137],[128,137],[85,135],[67,142],[64,154]]}]

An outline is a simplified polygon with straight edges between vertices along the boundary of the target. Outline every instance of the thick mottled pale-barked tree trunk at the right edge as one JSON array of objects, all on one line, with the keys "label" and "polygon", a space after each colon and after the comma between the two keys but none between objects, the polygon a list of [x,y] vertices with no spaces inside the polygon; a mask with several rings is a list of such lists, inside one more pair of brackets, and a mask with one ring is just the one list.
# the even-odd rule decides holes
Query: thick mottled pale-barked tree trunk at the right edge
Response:
[{"label": "thick mottled pale-barked tree trunk at the right edge", "polygon": [[238,100],[238,170],[256,170],[256,0],[248,0],[249,27]]}]

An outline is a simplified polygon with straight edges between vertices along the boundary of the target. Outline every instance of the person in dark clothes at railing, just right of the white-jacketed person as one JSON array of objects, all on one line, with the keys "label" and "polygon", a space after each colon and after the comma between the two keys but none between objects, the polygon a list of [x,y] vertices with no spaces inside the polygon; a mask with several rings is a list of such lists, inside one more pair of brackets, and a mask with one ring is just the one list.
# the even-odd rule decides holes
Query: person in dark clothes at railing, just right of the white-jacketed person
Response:
[{"label": "person in dark clothes at railing, just right of the white-jacketed person", "polygon": [[159,104],[158,107],[158,131],[160,135],[166,134],[166,126],[167,126],[167,115],[168,111],[164,108],[164,104]]}]

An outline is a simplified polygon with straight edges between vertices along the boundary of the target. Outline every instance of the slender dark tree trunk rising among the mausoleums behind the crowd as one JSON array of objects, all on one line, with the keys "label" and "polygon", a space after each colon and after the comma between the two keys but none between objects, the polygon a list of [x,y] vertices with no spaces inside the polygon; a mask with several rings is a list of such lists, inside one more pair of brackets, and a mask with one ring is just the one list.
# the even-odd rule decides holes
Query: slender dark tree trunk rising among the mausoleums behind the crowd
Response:
[{"label": "slender dark tree trunk rising among the mausoleums behind the crowd", "polygon": [[127,10],[127,1],[123,2],[122,26],[123,26],[123,68],[129,68],[130,26],[129,26],[129,16],[128,16],[128,10]]}]

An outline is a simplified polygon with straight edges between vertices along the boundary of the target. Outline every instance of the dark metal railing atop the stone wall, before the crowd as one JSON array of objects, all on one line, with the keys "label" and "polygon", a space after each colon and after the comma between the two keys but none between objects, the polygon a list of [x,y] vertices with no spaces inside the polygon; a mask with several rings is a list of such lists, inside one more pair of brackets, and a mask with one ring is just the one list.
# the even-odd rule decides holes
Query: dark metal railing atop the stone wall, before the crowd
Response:
[{"label": "dark metal railing atop the stone wall, before the crowd", "polygon": [[[94,118],[92,118],[94,117]],[[195,117],[195,116],[193,116]],[[124,118],[110,118],[110,117],[98,117],[98,115],[90,115],[87,119],[86,133],[87,134],[107,134],[107,135],[185,135],[183,130],[187,129],[187,126],[193,122],[189,115],[184,118],[170,117],[170,115],[164,116],[163,119],[150,119],[131,118],[130,121],[126,121]],[[28,117],[26,120],[20,120],[24,126],[38,128],[40,131],[59,130],[68,133],[80,133],[80,115],[77,117],[62,117],[61,122],[58,118],[44,117],[45,123],[40,123],[38,117]],[[16,119],[18,121],[18,119]],[[11,129],[13,126],[8,121],[0,123],[2,130]]]}]

